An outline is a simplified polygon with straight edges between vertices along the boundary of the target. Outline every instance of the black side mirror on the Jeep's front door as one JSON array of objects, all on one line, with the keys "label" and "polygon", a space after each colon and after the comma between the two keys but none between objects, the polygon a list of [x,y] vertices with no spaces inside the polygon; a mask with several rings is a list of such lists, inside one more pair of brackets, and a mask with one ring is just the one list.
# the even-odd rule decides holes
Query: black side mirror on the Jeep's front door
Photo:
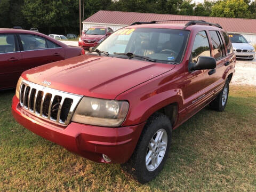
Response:
[{"label": "black side mirror on the Jeep's front door", "polygon": [[216,60],[213,57],[205,57],[200,56],[197,59],[196,63],[192,61],[189,62],[189,71],[193,70],[204,70],[204,69],[215,69],[216,68]]}]

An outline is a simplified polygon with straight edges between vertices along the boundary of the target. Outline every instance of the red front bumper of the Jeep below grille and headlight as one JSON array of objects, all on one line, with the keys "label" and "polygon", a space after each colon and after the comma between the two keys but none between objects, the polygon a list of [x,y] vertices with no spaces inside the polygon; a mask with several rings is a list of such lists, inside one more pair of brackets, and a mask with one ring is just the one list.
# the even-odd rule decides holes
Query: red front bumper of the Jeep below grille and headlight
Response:
[{"label": "red front bumper of the Jeep below grille and headlight", "polygon": [[71,122],[63,127],[45,122],[23,110],[15,95],[12,99],[12,114],[26,129],[99,163],[106,163],[102,154],[107,155],[111,163],[125,163],[131,157],[145,125],[110,128]]}]

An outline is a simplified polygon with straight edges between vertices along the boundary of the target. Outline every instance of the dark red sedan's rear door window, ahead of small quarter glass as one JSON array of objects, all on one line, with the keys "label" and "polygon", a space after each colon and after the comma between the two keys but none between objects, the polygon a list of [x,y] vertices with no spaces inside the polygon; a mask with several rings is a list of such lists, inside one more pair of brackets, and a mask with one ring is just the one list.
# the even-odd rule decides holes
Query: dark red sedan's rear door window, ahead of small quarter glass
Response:
[{"label": "dark red sedan's rear door window, ahead of small quarter glass", "polygon": [[20,35],[20,40],[24,51],[46,49],[45,39],[37,35]]}]

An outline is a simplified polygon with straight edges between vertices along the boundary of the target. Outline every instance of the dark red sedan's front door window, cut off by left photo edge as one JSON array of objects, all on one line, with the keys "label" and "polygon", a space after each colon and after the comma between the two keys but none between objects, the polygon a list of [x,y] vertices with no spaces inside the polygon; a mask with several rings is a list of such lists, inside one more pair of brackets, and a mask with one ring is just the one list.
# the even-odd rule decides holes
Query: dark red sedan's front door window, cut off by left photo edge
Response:
[{"label": "dark red sedan's front door window, cut off by left photo edge", "polygon": [[0,53],[15,52],[14,36],[9,34],[0,35]]}]

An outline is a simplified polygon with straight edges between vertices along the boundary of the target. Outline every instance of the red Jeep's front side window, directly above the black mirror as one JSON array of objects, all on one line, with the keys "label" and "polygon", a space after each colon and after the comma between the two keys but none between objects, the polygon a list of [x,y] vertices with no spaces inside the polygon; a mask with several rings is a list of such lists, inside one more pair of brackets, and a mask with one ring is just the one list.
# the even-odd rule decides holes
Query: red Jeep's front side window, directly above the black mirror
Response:
[{"label": "red Jeep's front side window, directly above the black mirror", "polygon": [[192,49],[192,61],[196,63],[200,56],[211,57],[210,45],[205,31],[200,31],[196,34]]}]

